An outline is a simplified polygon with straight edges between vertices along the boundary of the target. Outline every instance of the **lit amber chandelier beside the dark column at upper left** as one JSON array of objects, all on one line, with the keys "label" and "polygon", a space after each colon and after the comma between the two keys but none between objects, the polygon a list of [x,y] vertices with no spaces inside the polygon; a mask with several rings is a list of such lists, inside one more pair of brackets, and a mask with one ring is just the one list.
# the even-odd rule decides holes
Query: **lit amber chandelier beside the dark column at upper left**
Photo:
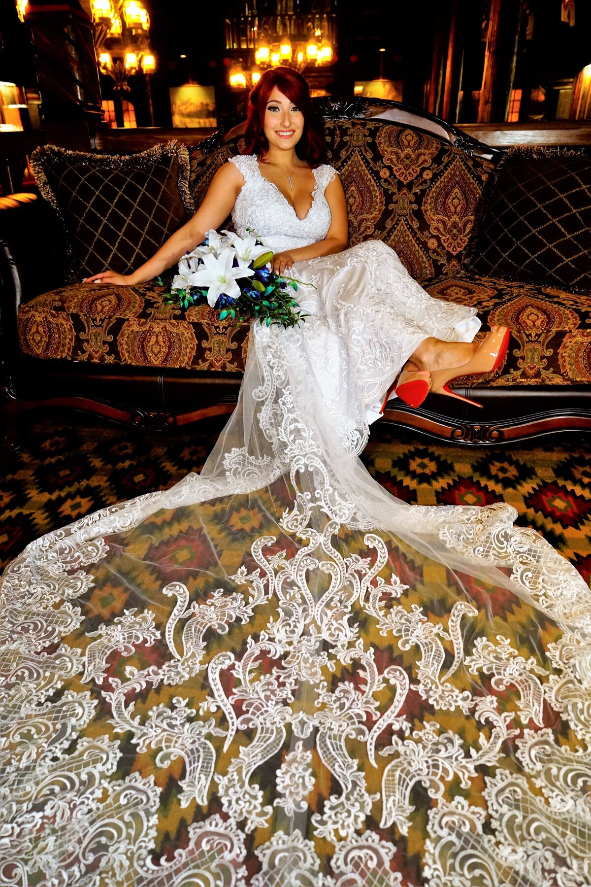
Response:
[{"label": "lit amber chandelier beside the dark column at upper left", "polygon": [[90,0],[97,62],[102,74],[113,77],[113,89],[129,92],[128,77],[156,70],[150,49],[150,16],[141,0]]}]

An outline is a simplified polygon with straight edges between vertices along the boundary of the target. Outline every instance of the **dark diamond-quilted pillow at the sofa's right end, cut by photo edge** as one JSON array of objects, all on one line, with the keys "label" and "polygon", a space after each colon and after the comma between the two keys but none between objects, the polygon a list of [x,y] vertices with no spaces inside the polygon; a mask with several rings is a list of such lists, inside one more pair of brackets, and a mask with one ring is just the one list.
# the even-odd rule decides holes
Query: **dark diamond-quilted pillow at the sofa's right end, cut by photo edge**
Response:
[{"label": "dark diamond-quilted pillow at the sofa's right end, cut by photo edge", "polygon": [[511,148],[483,200],[464,267],[591,293],[591,155]]}]

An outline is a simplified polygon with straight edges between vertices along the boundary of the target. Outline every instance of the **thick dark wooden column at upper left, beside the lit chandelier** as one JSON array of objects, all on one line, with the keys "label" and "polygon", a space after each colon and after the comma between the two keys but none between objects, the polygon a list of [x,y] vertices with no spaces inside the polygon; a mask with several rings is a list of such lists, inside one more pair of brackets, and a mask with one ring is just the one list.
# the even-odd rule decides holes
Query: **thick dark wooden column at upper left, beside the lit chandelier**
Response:
[{"label": "thick dark wooden column at upper left, beside the lit chandelier", "polygon": [[78,0],[31,0],[26,21],[43,134],[54,145],[86,150],[89,127],[103,118],[92,22]]}]

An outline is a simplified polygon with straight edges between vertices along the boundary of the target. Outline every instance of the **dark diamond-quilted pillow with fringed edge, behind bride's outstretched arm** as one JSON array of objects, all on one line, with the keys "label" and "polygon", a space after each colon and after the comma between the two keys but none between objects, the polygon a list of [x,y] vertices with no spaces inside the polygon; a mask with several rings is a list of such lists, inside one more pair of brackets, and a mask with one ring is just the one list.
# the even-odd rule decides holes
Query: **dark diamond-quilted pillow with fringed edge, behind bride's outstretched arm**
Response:
[{"label": "dark diamond-quilted pillow with fringed edge, behind bride's outstretched arm", "polygon": [[194,212],[189,154],[175,140],[127,155],[43,145],[31,167],[64,225],[67,282],[130,274]]}]

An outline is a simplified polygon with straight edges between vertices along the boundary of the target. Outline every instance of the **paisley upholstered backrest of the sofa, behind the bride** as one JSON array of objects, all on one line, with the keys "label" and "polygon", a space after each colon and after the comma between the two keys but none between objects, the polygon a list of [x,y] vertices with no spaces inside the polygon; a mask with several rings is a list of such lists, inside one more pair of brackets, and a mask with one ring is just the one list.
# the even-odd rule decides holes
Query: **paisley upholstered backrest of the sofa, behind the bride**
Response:
[{"label": "paisley upholstered backrest of the sofa, behind the bride", "polygon": [[[491,161],[384,121],[325,122],[324,140],[345,188],[350,246],[385,240],[416,280],[459,271]],[[235,137],[206,157],[191,151],[196,206],[242,145]]]}]

